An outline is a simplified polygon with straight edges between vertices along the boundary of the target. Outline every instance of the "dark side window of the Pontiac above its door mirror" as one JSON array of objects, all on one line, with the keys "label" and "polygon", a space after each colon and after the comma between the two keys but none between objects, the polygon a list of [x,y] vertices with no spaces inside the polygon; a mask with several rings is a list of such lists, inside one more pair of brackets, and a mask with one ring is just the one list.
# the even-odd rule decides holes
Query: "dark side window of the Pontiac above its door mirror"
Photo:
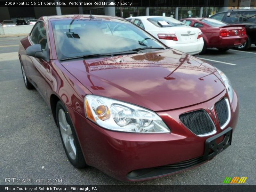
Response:
[{"label": "dark side window of the Pontiac above its door mirror", "polygon": [[34,44],[41,44],[42,49],[45,49],[47,39],[46,39],[46,27],[43,21],[36,23],[30,34],[31,41]]}]

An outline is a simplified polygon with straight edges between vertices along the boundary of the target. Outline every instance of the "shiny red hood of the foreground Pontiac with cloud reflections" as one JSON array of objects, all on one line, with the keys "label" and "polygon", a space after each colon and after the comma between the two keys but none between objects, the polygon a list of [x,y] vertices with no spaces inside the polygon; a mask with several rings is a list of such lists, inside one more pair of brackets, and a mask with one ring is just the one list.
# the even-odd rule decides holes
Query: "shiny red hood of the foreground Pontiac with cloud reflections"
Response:
[{"label": "shiny red hood of the foreground Pontiac with cloud reflections", "polygon": [[212,65],[171,49],[61,64],[93,94],[153,111],[195,105],[225,89]]}]

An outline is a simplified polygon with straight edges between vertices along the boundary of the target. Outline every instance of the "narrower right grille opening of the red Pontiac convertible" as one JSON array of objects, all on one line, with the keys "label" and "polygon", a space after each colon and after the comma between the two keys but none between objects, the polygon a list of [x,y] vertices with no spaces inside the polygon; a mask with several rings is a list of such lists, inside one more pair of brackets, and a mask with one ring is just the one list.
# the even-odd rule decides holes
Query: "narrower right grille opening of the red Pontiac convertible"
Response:
[{"label": "narrower right grille opening of the red Pontiac convertible", "polygon": [[228,120],[228,104],[225,98],[215,103],[214,107],[220,122],[220,126],[222,126]]}]

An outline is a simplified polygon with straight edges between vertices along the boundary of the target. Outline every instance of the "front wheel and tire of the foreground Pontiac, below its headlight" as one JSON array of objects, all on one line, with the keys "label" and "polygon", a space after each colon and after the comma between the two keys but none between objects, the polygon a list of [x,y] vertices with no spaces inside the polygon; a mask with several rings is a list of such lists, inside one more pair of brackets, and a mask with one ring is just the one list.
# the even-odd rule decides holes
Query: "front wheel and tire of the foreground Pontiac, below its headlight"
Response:
[{"label": "front wheel and tire of the foreground Pontiac, below its headlight", "polygon": [[70,163],[76,168],[86,166],[84,156],[76,136],[76,131],[71,118],[61,101],[56,105],[56,120],[60,132],[62,145]]}]

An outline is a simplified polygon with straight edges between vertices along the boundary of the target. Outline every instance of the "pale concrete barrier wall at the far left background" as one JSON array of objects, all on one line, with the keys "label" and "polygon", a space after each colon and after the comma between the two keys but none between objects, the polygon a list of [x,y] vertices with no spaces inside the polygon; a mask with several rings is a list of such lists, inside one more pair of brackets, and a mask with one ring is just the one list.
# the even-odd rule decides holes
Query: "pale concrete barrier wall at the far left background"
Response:
[{"label": "pale concrete barrier wall at the far left background", "polygon": [[29,34],[34,25],[19,25],[13,27],[0,27],[0,35]]}]

